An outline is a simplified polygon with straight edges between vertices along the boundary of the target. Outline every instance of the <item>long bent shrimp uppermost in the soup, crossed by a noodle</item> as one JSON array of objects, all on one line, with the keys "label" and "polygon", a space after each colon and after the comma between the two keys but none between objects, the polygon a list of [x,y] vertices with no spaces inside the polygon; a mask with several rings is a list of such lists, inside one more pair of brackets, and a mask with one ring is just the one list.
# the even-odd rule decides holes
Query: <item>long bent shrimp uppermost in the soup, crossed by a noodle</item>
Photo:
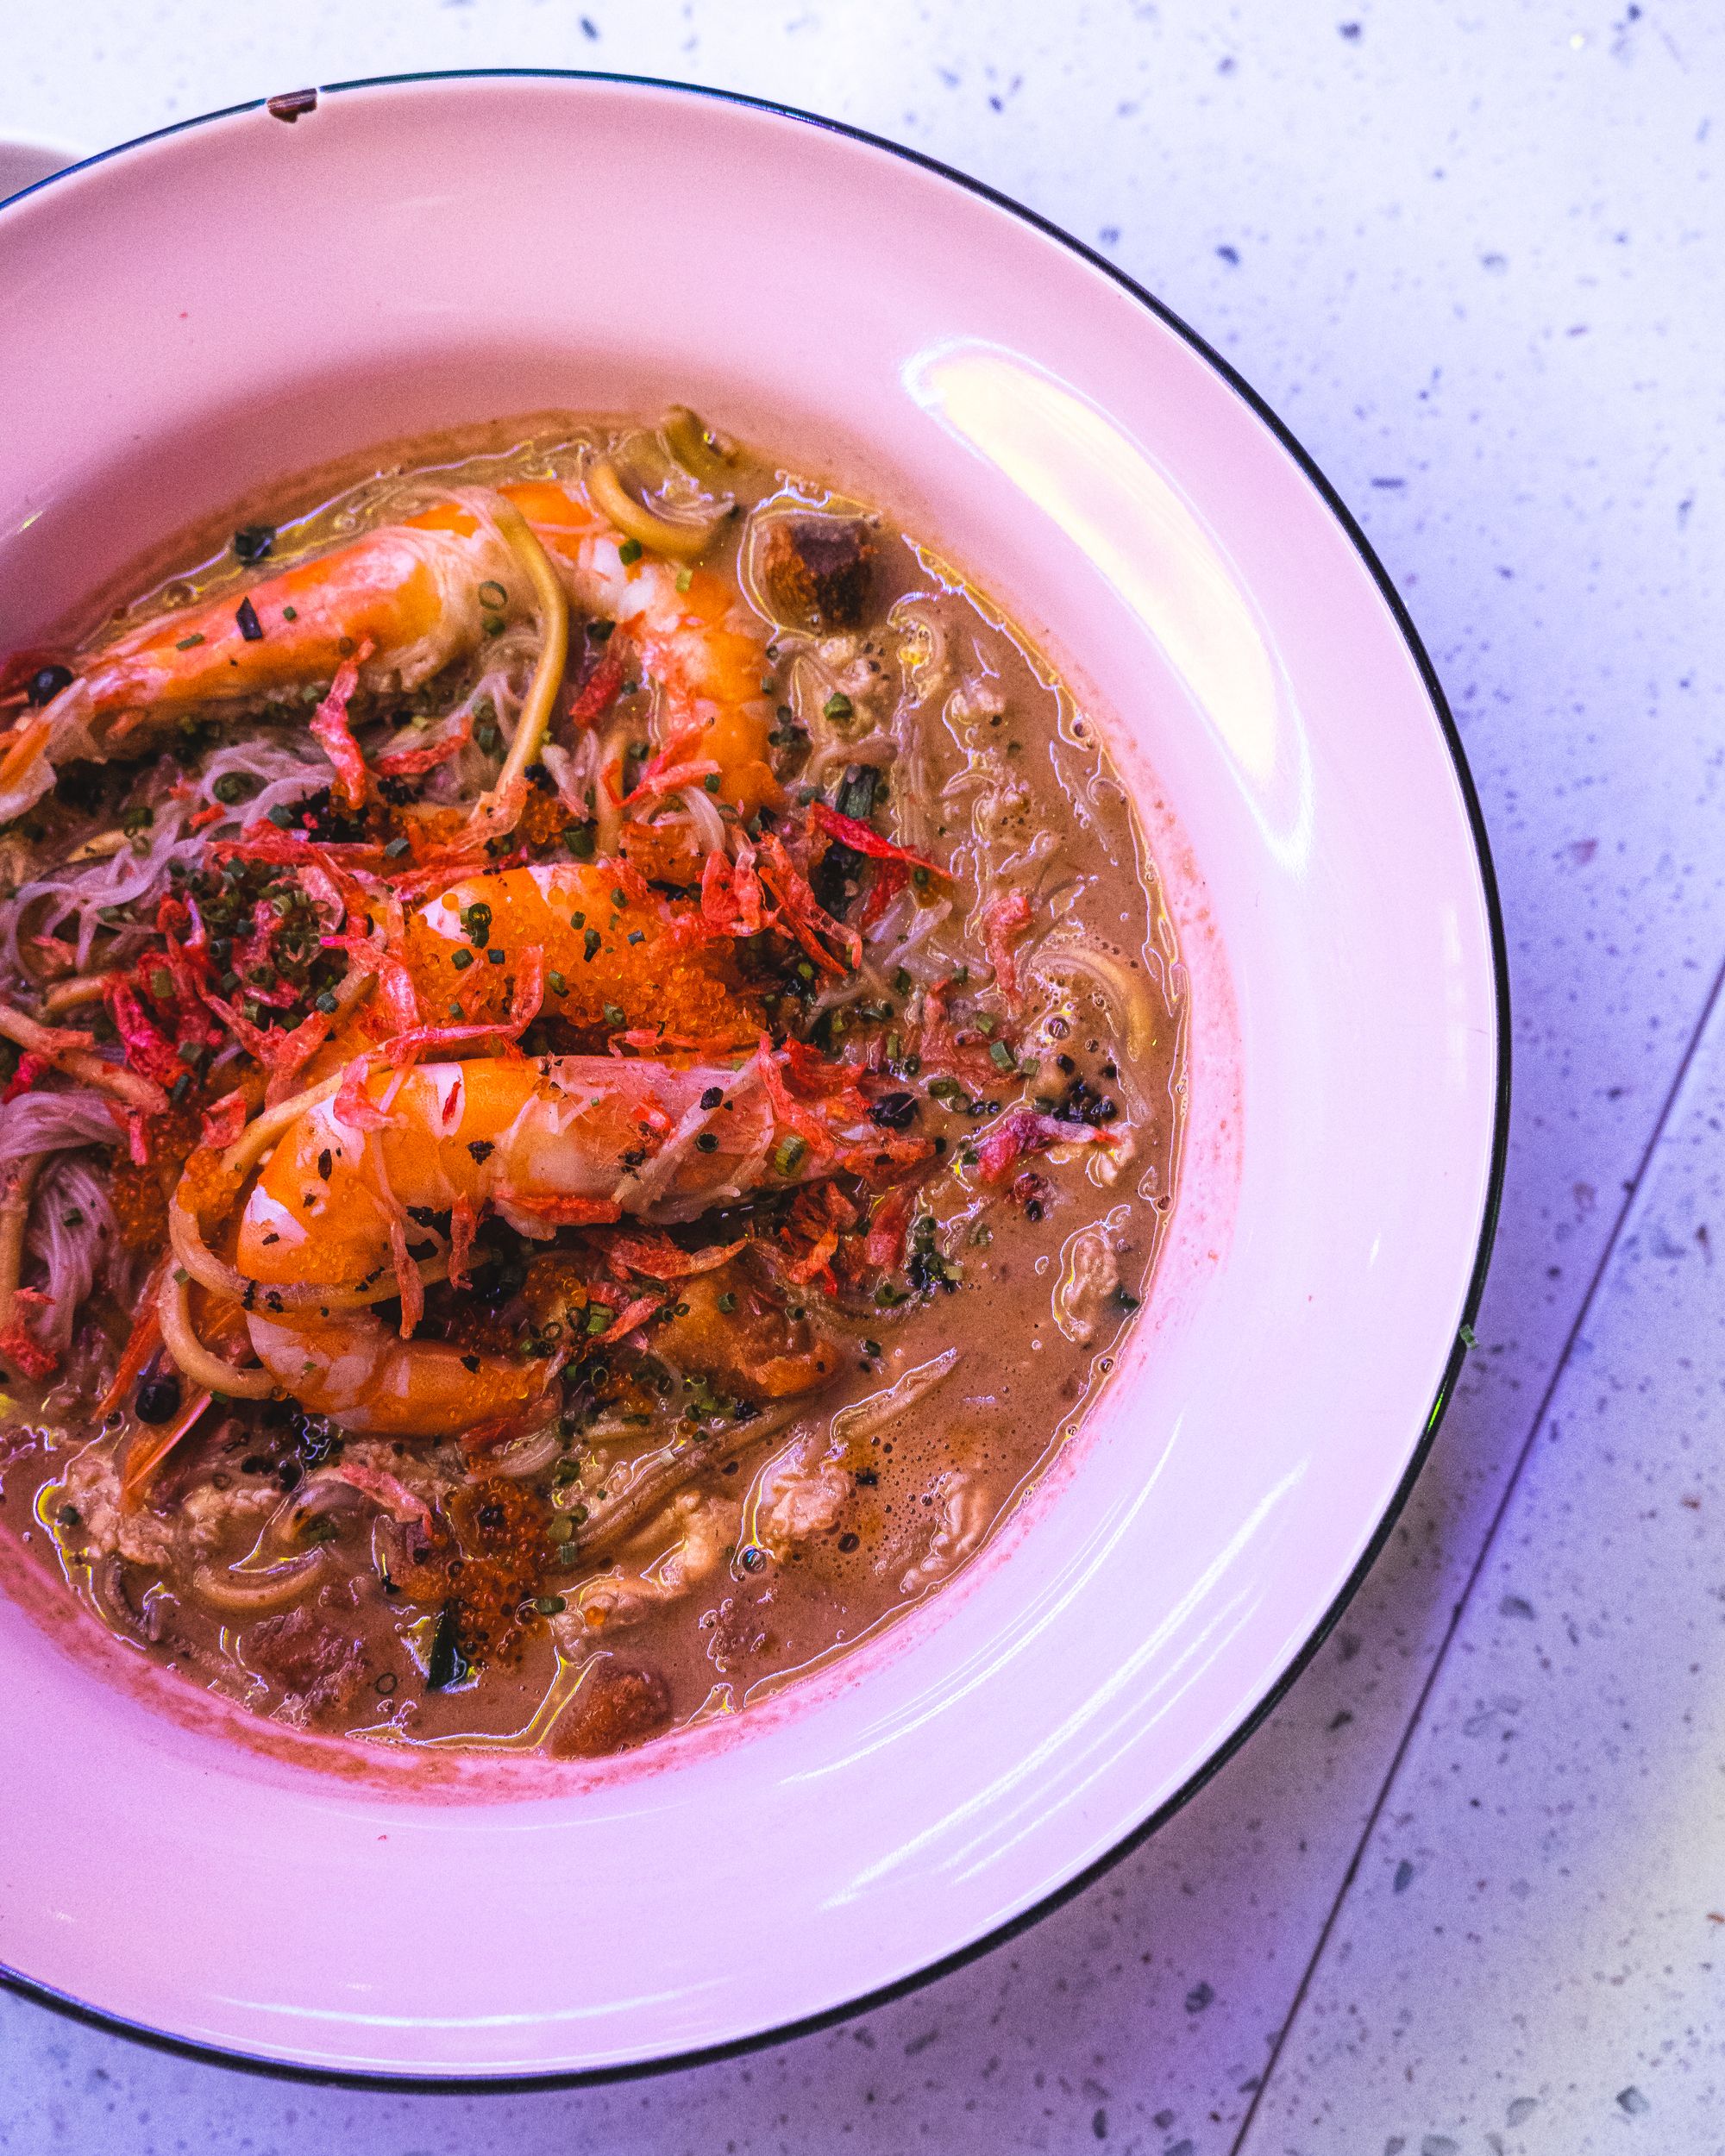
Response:
[{"label": "long bent shrimp uppermost in the soup, crossed by a noodle", "polygon": [[[778,802],[768,763],[765,647],[731,589],[651,554],[625,563],[617,530],[550,481],[500,489],[571,595],[615,621],[660,683],[656,748],[675,778],[718,776],[740,815]],[[0,737],[0,819],[19,815],[73,757],[142,746],[185,711],[257,705],[328,686],[367,642],[369,690],[414,688],[479,649],[492,623],[533,612],[522,561],[472,509],[444,502],[295,563],[220,599],[147,621],[91,655],[45,709]]]}]

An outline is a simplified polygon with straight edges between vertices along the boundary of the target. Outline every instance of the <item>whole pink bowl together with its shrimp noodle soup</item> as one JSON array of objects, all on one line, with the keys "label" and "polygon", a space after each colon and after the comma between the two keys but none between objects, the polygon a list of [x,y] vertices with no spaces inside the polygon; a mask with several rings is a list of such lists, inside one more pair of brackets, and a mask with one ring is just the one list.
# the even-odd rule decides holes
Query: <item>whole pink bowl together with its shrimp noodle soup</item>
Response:
[{"label": "whole pink bowl together with its shrimp noodle soup", "polygon": [[1292,1680],[1477,1300],[1382,571],[1106,265],[733,97],[293,93],[0,265],[9,1973],[494,2083],[1005,1936]]}]

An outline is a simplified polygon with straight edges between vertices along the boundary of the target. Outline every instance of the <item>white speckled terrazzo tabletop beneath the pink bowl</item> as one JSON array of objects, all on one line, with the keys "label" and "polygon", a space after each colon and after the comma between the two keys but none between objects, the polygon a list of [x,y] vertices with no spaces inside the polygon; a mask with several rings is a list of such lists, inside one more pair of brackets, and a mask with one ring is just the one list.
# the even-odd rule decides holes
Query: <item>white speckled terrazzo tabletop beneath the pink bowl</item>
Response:
[{"label": "white speckled terrazzo tabletop beneath the pink bowl", "polygon": [[82,0],[0,28],[0,132],[615,67],[856,121],[1102,246],[1408,597],[1496,849],[1518,1078],[1479,1352],[1389,1550],[1229,1768],[1013,1947],[582,2093],[304,2089],[0,1996],[0,2150],[1725,2147],[1719,9]]}]

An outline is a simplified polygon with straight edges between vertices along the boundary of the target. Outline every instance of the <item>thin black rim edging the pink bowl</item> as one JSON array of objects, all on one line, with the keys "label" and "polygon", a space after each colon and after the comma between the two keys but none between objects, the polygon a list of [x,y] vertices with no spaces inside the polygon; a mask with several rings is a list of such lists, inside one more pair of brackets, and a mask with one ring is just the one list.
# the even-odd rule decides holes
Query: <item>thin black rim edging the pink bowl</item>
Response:
[{"label": "thin black rim edging the pink bowl", "polygon": [[[852,142],[860,142],[867,149],[884,151],[888,157],[899,157],[906,164],[921,166],[925,172],[934,172],[938,179],[951,181],[955,188],[964,188],[966,194],[975,194],[996,209],[1007,211],[1022,224],[1029,224],[1044,239],[1052,239],[1067,248],[1091,270],[1100,270],[1113,285],[1117,285],[1128,298],[1136,300],[1149,315],[1154,315],[1164,328],[1173,330],[1175,336],[1184,338],[1201,360],[1205,360],[1220,379],[1233,390],[1233,395],[1246,405],[1246,410],[1270,429],[1270,433],[1281,442],[1300,472],[1307,476],[1317,498],[1337,520],[1341,530],[1348,535],[1354,552],[1361,556],[1367,573],[1378,586],[1384,606],[1402,632],[1402,640],[1408,647],[1419,679],[1425,686],[1425,694],[1432,703],[1432,716],[1438,722],[1445,746],[1449,748],[1449,759],[1455,768],[1455,785],[1462,793],[1462,806],[1466,808],[1468,830],[1473,834],[1473,849],[1479,867],[1479,886],[1486,899],[1486,918],[1490,927],[1492,944],[1492,985],[1496,1003],[1496,1078],[1494,1078],[1494,1102],[1492,1102],[1492,1149],[1490,1149],[1490,1171],[1486,1179],[1486,1197],[1479,1212],[1479,1240],[1475,1244],[1473,1270],[1468,1274],[1466,1296],[1462,1300],[1462,1326],[1455,1335],[1455,1345],[1449,1350],[1449,1360],[1445,1363],[1443,1378],[1438,1382],[1436,1397],[1425,1416],[1419,1442],[1408,1460],[1402,1481],[1395,1488],[1389,1505],[1384,1507],[1378,1526],[1358,1557],[1358,1563],[1343,1580],[1330,1606],[1320,1617],[1317,1626],[1311,1630],[1307,1641],[1289,1658],[1281,1675],[1270,1684],[1264,1699],[1244,1716],[1244,1720],[1216,1746],[1216,1751],[1205,1759],[1205,1764],[1186,1781],[1171,1798],[1158,1805],[1145,1820],[1141,1820],[1128,1835],[1121,1835],[1113,1848],[1104,1850],[1102,1856],[1091,1858],[1080,1871],[1070,1880],[1046,1893],[1035,1906],[1020,1910],[1018,1917],[1007,1919],[979,1938],[955,1947],[951,1953],[942,1953],[938,1960],[927,1962],[923,1968],[910,1975],[895,1977],[891,1984],[882,1984],[875,1990],[858,1992],[839,2005],[822,2007],[817,2014],[804,2014],[796,2020],[778,2022],[772,2029],[761,2029],[753,2035],[731,2037],[724,2044],[707,2044],[694,2050],[666,2053],[658,2059],[632,2059],[619,2065],[597,2065],[578,2070],[546,2070],[541,2074],[390,2074],[390,2072],[358,2072],[345,2068],[319,2068],[319,2065],[295,2065],[285,2059],[261,2059],[242,2050],[226,2050],[220,2044],[201,2044],[190,2037],[172,2035],[164,2029],[151,2029],[144,2022],[127,2020],[123,2014],[110,2014],[104,2007],[86,2005],[82,1999],[71,1999],[67,1992],[54,1990],[50,1984],[39,1984],[34,1977],[24,1975],[24,1971],[0,1964],[0,1984],[15,1990],[28,1999],[37,1999],[41,2005],[54,2007],[58,2014],[71,2020],[88,2022],[95,2029],[108,2029],[119,2035],[127,2035],[140,2044],[155,2050],[166,2050],[183,2059],[198,2059],[209,2065],[233,2068],[235,2072],[263,2074],[276,2081],[300,2081],[315,2087],[332,2089],[392,2089],[410,2091],[423,2096],[483,2096],[483,2093],[509,2093],[509,2091],[533,2091],[533,2089],[584,2089],[602,2087],[621,2081],[640,2081],[653,2074],[675,2074],[694,2065],[716,2065],[724,2059],[740,2059],[755,2050],[765,2050],[772,2044],[785,2044],[791,2037],[815,2035],[822,2029],[830,2029],[837,2022],[852,2020],[858,2014],[871,2014],[878,2007],[891,2005],[895,1999],[906,1999],[910,1992],[921,1990],[925,1984],[934,1984],[938,1977],[951,1975],[964,1968],[968,1962],[979,1960],[983,1953],[992,1953],[994,1947],[1003,1947],[1007,1940],[1018,1938],[1029,1932],[1033,1923],[1063,1908],[1087,1887],[1093,1887],[1106,1871],[1123,1858],[1130,1856],[1138,1843],[1147,1841],[1158,1826],[1164,1826],[1182,1807],[1186,1807],[1197,1792],[1220,1772],[1223,1766],[1240,1751],[1246,1738],[1270,1716],[1270,1712],[1287,1697],[1294,1682],[1300,1677],[1305,1667],[1324,1645],[1328,1634],[1335,1630],[1341,1613],[1358,1593],[1367,1572],[1378,1561],[1384,1544],[1395,1529],[1402,1509],[1412,1494],[1419,1473],[1432,1451],[1438,1436],[1445,1410],[1449,1408],[1451,1395],[1455,1391],[1455,1380],[1462,1371],[1462,1363],[1468,1354],[1473,1319],[1479,1313],[1479,1298],[1486,1289],[1486,1272],[1492,1259],[1492,1240],[1496,1235],[1499,1210],[1503,1203],[1503,1175],[1509,1151],[1509,953],[1503,934],[1503,906],[1496,888],[1496,871],[1492,867],[1490,839],[1486,834],[1486,817],[1479,806],[1479,793],[1473,783],[1473,772],[1468,770],[1466,750],[1462,748],[1462,735],[1455,718],[1449,709],[1449,699],[1443,692],[1438,673],[1419,638],[1419,630],[1412,623],[1412,614],[1402,602],[1399,591],[1391,582],[1389,571],[1378,561],[1371,541],[1365,537],[1356,524],[1352,511],[1341,500],[1337,489],[1320,470],[1311,453],[1296,440],[1292,429],[1270,410],[1270,405],[1257,395],[1257,390],[1238,373],[1214,349],[1197,334],[1179,315],[1173,313],[1162,300],[1151,291],[1145,291],[1134,278],[1110,263],[1095,248],[1087,246],[1082,239],[1074,239],[1072,233],[1063,231],[1050,218],[1039,216],[1035,209],[1026,209],[1013,196],[1003,194],[998,188],[988,185],[988,181],[972,179],[968,172],[960,172],[951,164],[942,164],[940,157],[929,157],[925,151],[910,149],[903,142],[891,142],[886,136],[871,134],[867,127],[852,127],[847,121],[826,119],[819,112],[804,112],[798,106],[778,103],[772,97],[748,97],[742,91],[718,91],[699,82],[668,82],[660,75],[625,75],[610,73],[606,69],[591,67],[455,67],[455,69],[414,69],[401,75],[360,75],[354,82],[332,82],[321,84],[315,93],[293,93],[310,95],[313,99],[339,97],[345,91],[386,91],[403,88],[414,82],[599,82],[619,84],[623,88],[640,91],[671,91],[681,97],[703,97],[714,103],[740,106],[748,112],[768,112],[774,119],[800,121],[806,127],[819,127],[824,134],[843,136]],[[185,134],[192,127],[209,127],[213,121],[237,119],[244,112],[261,112],[272,106],[270,97],[252,97],[237,106],[222,106],[218,112],[201,112],[194,119],[175,121],[170,127],[155,127],[149,134],[134,136],[129,142],[116,142],[112,149],[97,151],[93,157],[84,157],[78,164],[67,166],[47,179],[37,181],[30,188],[19,190],[11,196],[19,203],[32,194],[41,194],[45,188],[58,185],[73,172],[86,172],[97,164],[106,164],[110,157],[123,157],[147,142],[162,142],[168,136]],[[306,108],[310,110],[310,108]],[[0,205],[0,209],[6,205]]]}]

